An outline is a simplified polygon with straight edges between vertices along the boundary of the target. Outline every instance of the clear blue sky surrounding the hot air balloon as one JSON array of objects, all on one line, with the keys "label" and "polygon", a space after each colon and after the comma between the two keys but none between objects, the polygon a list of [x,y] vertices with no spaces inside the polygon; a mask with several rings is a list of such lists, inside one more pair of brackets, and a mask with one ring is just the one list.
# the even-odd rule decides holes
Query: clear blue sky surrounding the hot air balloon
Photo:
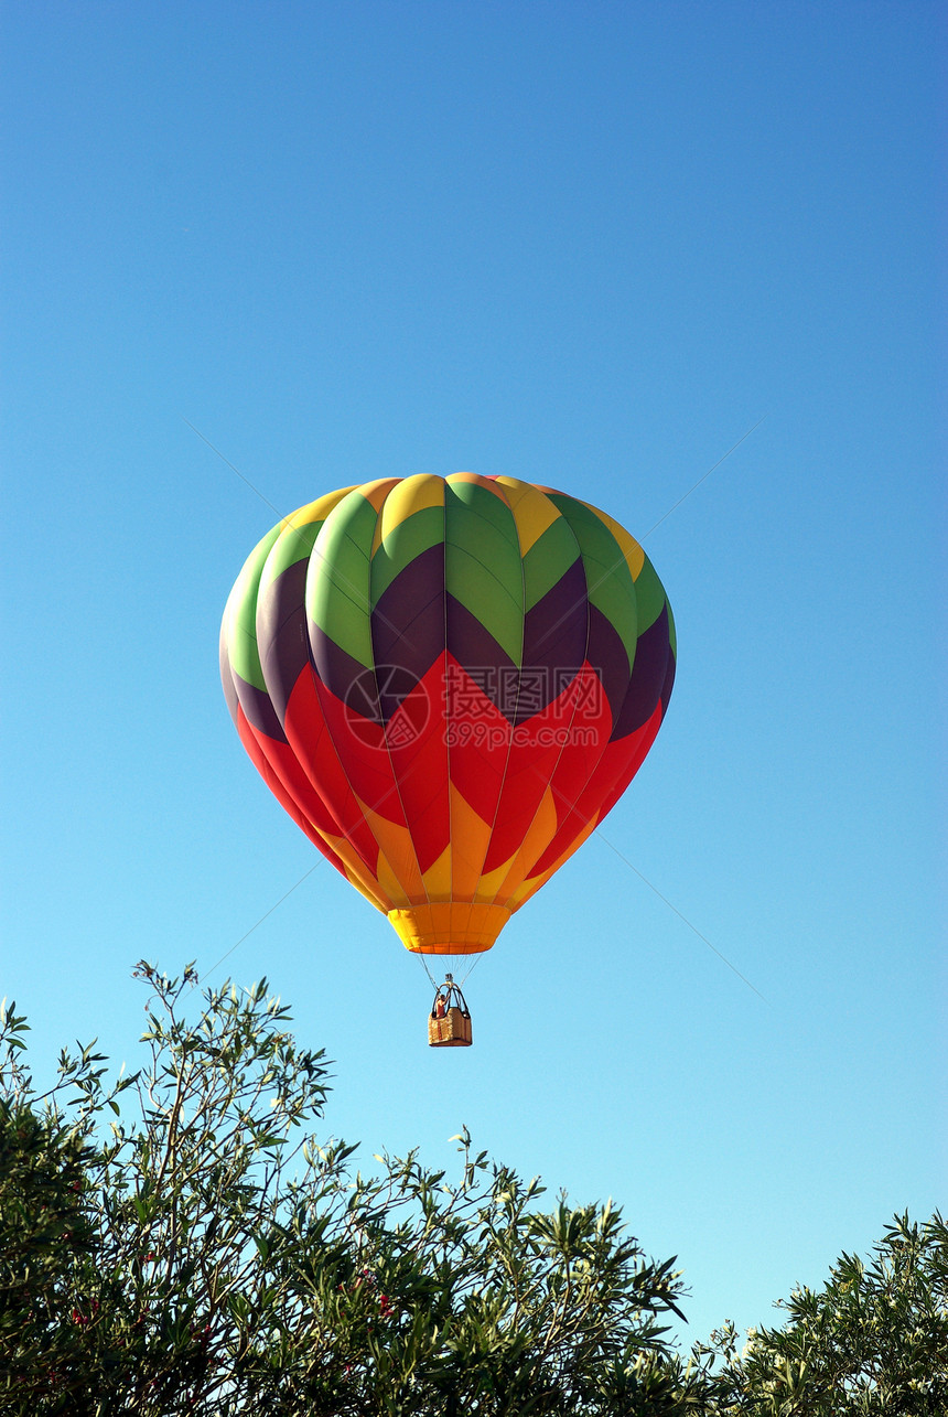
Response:
[{"label": "clear blue sky surrounding the hot air balloon", "polygon": [[[37,1066],[132,1063],[133,962],[230,951],[210,982],[266,973],[336,1060],[327,1132],[441,1166],[468,1124],[614,1196],[696,1338],[944,1206],[937,4],[1,23],[0,993]],[[472,975],[475,1047],[429,1051],[421,965],[268,795],[217,636],[276,513],[459,469],[643,538],[679,674]]]}]

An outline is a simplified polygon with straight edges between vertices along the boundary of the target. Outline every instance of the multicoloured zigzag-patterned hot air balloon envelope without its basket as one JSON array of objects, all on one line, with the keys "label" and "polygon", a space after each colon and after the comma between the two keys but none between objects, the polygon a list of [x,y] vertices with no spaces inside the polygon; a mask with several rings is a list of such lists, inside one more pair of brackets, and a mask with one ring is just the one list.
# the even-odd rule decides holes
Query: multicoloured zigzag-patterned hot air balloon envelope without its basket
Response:
[{"label": "multicoloured zigzag-patterned hot air balloon envelope without its basket", "polygon": [[615,805],[675,679],[650,561],[516,478],[388,478],[273,527],[221,677],[266,785],[408,949],[489,949]]}]

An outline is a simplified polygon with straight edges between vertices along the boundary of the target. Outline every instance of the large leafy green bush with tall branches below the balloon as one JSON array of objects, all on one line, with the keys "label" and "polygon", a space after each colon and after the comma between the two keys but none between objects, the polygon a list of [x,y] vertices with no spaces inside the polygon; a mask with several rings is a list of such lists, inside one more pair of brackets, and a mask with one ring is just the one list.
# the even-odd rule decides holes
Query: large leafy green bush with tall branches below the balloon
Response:
[{"label": "large leafy green bush with tall branches below the balloon", "polygon": [[289,1013],[137,968],[147,1061],[94,1046],[38,1093],[0,1020],[0,1411],[374,1417],[703,1411],[673,1350],[673,1260],[611,1203],[543,1210],[538,1180],[456,1138],[351,1172],[319,1142],[327,1064]]}]

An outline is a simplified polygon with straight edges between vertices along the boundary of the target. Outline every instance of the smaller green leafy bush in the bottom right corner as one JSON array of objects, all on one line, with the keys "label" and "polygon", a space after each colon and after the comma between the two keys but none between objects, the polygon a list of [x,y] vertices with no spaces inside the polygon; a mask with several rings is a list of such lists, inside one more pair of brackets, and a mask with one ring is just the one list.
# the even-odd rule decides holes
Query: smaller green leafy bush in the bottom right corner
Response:
[{"label": "smaller green leafy bush in the bottom right corner", "polygon": [[843,1254],[822,1291],[778,1304],[738,1359],[723,1335],[723,1417],[944,1417],[948,1413],[948,1227],[896,1216],[866,1264]]}]

